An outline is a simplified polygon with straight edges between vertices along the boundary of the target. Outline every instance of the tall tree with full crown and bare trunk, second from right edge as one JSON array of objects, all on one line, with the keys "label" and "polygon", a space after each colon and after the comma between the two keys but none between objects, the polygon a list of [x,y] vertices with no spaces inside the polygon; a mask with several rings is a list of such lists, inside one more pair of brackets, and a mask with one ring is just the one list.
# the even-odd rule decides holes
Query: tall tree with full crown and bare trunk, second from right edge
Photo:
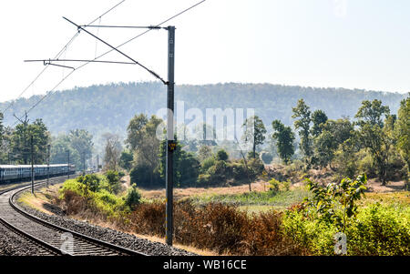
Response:
[{"label": "tall tree with full crown and bare trunk, second from right edge", "polygon": [[384,107],[382,101],[366,100],[355,116],[356,125],[360,127],[357,132],[359,140],[370,150],[383,186],[386,185],[389,152],[392,146],[392,139],[384,131],[383,117],[387,118],[389,115],[389,107]]}]

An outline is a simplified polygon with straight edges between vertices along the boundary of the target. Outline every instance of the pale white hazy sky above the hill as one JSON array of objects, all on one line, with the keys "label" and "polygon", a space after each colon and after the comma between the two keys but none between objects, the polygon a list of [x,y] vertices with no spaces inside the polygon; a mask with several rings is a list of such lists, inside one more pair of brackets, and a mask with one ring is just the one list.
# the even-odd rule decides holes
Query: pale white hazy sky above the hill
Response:
[{"label": "pale white hazy sky above the hill", "polygon": [[[44,68],[23,60],[56,56],[76,33],[62,16],[85,25],[118,2],[3,3],[0,102],[16,98]],[[102,17],[101,24],[156,25],[197,2],[127,0]],[[177,27],[177,84],[246,82],[410,91],[408,0],[207,0],[169,25]],[[141,32],[89,30],[115,46]],[[92,59],[96,48],[97,55],[108,50],[81,33],[62,58]],[[121,49],[166,78],[166,31],[152,31]],[[127,61],[117,53],[103,59]],[[48,67],[24,96],[45,94],[68,72]],[[91,64],[58,89],[150,80],[155,78],[138,66]]]}]

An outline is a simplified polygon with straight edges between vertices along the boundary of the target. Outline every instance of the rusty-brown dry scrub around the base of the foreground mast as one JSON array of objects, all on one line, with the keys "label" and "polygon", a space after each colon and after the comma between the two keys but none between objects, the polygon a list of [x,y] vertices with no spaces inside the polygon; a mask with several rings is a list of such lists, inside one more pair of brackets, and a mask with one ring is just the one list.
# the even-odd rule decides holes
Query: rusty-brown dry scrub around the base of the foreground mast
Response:
[{"label": "rusty-brown dry scrub around the base of the foreground mast", "polygon": [[[164,237],[165,204],[141,204],[130,217],[138,234]],[[175,240],[197,249],[229,255],[304,255],[282,233],[282,214],[270,211],[249,216],[236,207],[210,203],[195,208],[189,201],[174,205]]]}]

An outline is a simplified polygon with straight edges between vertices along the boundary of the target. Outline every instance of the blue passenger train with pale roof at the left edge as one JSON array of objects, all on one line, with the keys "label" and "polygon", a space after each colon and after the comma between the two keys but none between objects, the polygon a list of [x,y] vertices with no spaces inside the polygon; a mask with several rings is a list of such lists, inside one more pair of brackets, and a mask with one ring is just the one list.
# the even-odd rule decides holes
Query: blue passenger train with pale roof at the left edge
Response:
[{"label": "blue passenger train with pale roof at the left edge", "polygon": [[[47,172],[47,168],[49,170]],[[76,166],[74,165],[34,165],[35,178],[46,178],[47,174],[50,177],[61,175],[74,174]],[[31,179],[31,165],[10,166],[0,165],[0,184],[12,181],[30,180]]]}]

